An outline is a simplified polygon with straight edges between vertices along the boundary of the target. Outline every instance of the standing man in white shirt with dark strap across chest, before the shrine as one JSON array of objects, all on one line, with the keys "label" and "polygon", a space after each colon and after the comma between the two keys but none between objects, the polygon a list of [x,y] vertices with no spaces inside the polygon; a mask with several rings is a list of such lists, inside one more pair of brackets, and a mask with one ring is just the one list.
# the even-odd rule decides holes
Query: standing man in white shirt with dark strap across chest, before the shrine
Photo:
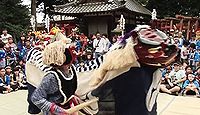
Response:
[{"label": "standing man in white shirt with dark strap across chest, before the shrine", "polygon": [[100,33],[96,34],[96,39],[93,41],[93,48],[95,53],[95,58],[101,56],[104,54],[104,48],[105,48],[105,40],[101,37]]}]

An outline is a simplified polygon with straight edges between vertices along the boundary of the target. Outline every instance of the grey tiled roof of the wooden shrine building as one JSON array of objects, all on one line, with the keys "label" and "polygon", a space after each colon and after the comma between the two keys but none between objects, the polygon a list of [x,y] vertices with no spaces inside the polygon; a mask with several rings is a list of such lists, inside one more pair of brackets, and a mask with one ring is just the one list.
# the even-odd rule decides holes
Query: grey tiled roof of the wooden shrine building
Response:
[{"label": "grey tiled roof of the wooden shrine building", "polygon": [[64,14],[78,14],[78,13],[94,13],[94,12],[106,12],[113,11],[119,8],[126,8],[133,12],[151,15],[151,12],[137,3],[135,0],[126,0],[125,4],[121,4],[118,0],[111,2],[94,2],[83,4],[66,4],[62,6],[56,6],[55,12]]}]

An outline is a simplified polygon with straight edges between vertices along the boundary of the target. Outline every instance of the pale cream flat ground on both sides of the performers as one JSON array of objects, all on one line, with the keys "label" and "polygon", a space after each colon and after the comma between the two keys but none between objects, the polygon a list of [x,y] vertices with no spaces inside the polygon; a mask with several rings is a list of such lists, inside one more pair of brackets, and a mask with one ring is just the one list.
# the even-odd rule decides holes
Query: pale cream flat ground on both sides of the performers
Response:
[{"label": "pale cream flat ground on both sides of the performers", "polygon": [[[28,115],[27,91],[0,94],[0,115]],[[158,115],[199,115],[200,98],[159,94]]]}]

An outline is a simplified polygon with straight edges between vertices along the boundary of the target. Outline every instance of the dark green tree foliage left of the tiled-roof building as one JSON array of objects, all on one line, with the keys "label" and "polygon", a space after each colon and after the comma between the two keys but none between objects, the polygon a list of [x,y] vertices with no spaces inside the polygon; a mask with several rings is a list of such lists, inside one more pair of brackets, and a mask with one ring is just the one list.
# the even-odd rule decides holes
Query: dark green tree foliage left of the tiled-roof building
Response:
[{"label": "dark green tree foliage left of the tiled-roof building", "polygon": [[21,0],[0,1],[0,30],[7,29],[15,38],[30,26],[29,9]]}]

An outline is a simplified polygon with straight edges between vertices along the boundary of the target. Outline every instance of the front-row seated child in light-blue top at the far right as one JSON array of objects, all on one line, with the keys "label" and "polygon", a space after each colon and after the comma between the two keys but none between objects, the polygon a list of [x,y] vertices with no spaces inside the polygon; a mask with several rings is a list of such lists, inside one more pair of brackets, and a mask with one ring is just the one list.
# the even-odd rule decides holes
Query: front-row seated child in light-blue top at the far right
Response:
[{"label": "front-row seated child in light-blue top at the far right", "polygon": [[193,74],[188,74],[188,79],[183,84],[184,95],[199,95],[199,83]]}]

